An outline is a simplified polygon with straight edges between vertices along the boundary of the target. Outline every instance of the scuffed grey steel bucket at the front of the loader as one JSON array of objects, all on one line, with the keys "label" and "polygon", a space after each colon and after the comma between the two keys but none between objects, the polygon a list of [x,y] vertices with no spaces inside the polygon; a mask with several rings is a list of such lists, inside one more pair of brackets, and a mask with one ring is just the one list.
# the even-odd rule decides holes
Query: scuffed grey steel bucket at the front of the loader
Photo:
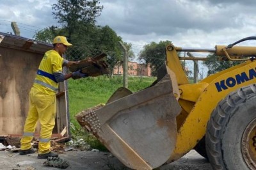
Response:
[{"label": "scuffed grey steel bucket at the front of the loader", "polygon": [[76,118],[125,166],[154,169],[175,148],[180,105],[172,90],[166,75],[150,88],[131,95],[128,91],[127,96],[82,111]]}]

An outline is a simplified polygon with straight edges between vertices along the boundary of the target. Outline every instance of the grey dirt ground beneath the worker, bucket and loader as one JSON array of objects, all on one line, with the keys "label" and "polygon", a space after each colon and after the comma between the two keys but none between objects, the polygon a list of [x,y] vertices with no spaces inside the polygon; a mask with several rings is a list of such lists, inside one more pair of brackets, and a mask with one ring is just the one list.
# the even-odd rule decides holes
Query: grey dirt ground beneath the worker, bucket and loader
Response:
[{"label": "grey dirt ground beneath the worker, bucket and loader", "polygon": [[[45,160],[36,158],[37,154],[19,155],[19,153],[11,151],[0,151],[0,169],[12,170],[34,170],[34,169],[59,169],[56,167],[44,166]],[[60,158],[68,160],[70,166],[67,169],[129,169],[125,167],[117,158],[111,153],[102,151],[80,151],[71,150],[61,153]],[[195,150],[191,150],[188,154],[179,160],[157,168],[157,170],[211,170],[209,162]]]}]

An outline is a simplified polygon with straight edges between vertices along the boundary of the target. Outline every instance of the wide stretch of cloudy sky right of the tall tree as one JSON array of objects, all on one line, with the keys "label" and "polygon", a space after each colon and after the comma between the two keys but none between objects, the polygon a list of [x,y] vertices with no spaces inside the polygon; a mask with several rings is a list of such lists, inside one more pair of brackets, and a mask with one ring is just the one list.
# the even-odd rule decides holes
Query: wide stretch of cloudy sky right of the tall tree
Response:
[{"label": "wide stretch of cloudy sky right of the tall tree", "polygon": [[250,0],[111,2],[102,1],[98,23],[136,45],[170,40],[181,47],[213,48],[255,36],[256,4]]}]

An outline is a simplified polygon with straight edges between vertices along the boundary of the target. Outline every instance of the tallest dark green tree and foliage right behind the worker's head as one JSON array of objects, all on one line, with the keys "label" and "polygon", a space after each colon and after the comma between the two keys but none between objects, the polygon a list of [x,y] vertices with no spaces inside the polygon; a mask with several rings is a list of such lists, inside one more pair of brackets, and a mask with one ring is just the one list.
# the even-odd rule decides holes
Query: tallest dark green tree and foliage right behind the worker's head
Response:
[{"label": "tallest dark green tree and foliage right behind the worker's head", "polygon": [[[58,0],[52,5],[52,14],[61,24],[61,27],[47,27],[36,33],[36,39],[52,42],[56,35],[67,36],[73,44],[68,48],[67,59],[81,60],[86,57],[97,56],[104,52],[112,71],[115,65],[122,63],[122,50],[118,42],[122,38],[116,35],[109,26],[96,26],[95,18],[100,15],[103,6],[99,0]],[[126,43],[129,49],[129,58],[134,58],[131,44]]]}]

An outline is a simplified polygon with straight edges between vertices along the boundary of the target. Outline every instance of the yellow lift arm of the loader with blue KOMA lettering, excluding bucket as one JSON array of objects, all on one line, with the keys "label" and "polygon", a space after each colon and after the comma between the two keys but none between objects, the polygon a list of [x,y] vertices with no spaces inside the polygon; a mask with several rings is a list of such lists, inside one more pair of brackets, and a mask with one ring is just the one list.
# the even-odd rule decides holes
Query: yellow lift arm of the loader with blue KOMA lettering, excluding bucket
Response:
[{"label": "yellow lift arm of the loader with blue KOMA lettering, excluding bucket", "polygon": [[[175,150],[167,163],[173,162],[188,153],[188,151],[192,150],[198,141],[204,137],[207,121],[220,100],[226,97],[228,93],[256,82],[253,74],[256,72],[256,63],[255,61],[247,61],[246,63],[241,63],[240,65],[233,66],[232,68],[206,77],[197,84],[188,84],[188,80],[185,79],[186,76],[182,68],[177,68],[177,63],[172,62],[173,60],[179,61],[179,57],[177,56],[175,47],[173,45],[170,46],[172,47],[166,47],[167,65],[170,63],[168,67],[173,70],[176,77],[178,77],[177,81],[180,91],[178,102],[182,107],[182,112],[177,116],[178,133]],[[217,47],[220,49],[219,46]],[[221,45],[221,47],[224,48],[225,46]],[[236,54],[237,52],[245,53],[243,49],[247,52],[248,48],[252,54],[255,52],[253,51],[253,49],[256,49],[255,47],[245,47],[245,49],[244,47],[237,47],[235,49]],[[172,51],[168,49],[172,49]],[[218,53],[221,54],[221,52]],[[254,54],[256,54],[256,52]],[[253,75],[250,75],[250,72]],[[243,77],[244,73],[246,73],[249,79]],[[237,75],[241,77],[238,81],[236,79]],[[228,83],[230,86],[227,85],[228,78],[230,78],[230,84]],[[223,87],[227,87],[227,89],[222,89],[220,86],[221,83],[224,84]],[[220,91],[218,91],[217,87],[220,88]]]}]

